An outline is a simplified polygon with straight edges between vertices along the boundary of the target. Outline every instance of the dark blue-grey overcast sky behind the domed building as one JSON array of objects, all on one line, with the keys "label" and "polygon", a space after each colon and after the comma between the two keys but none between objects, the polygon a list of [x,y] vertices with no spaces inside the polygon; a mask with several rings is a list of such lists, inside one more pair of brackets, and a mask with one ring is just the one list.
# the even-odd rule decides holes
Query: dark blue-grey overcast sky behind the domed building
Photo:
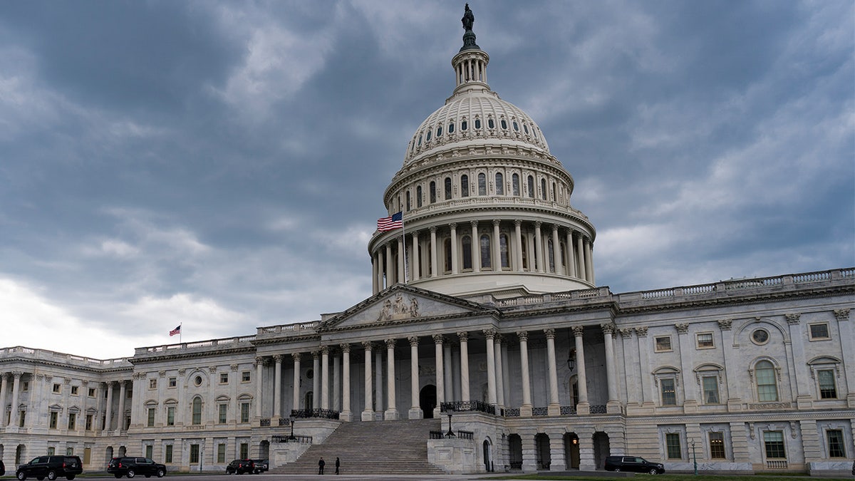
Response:
[{"label": "dark blue-grey overcast sky behind the domed building", "polygon": [[[612,292],[855,265],[855,3],[469,2]],[[0,347],[95,358],[371,295],[463,2],[0,2]]]}]

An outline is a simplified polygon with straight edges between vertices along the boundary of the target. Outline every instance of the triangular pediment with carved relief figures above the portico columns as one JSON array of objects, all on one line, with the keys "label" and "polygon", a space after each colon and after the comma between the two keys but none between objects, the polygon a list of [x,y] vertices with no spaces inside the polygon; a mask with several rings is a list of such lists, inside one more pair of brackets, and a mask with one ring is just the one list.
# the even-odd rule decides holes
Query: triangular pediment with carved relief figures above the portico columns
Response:
[{"label": "triangular pediment with carved relief figures above the portico columns", "polygon": [[447,294],[398,284],[324,321],[317,330],[412,324],[437,318],[468,318],[498,311]]}]

